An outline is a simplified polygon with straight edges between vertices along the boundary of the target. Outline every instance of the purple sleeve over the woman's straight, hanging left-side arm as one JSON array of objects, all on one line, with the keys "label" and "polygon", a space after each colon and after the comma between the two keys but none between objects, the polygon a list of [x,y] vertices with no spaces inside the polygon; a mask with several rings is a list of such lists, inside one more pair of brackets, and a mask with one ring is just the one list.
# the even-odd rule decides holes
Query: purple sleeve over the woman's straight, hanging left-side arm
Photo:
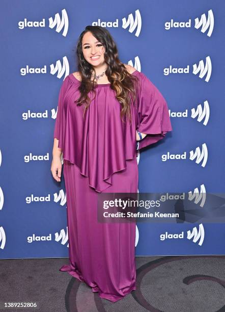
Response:
[{"label": "purple sleeve over the woman's straight, hanging left-side arm", "polygon": [[57,108],[57,118],[54,124],[54,135],[53,137],[59,140],[58,147],[62,149],[64,146],[64,137],[65,137],[65,128],[66,128],[66,112],[64,106],[64,98],[67,90],[67,86],[69,83],[69,76],[66,76],[65,80],[63,81],[59,98],[58,98],[58,108]]}]

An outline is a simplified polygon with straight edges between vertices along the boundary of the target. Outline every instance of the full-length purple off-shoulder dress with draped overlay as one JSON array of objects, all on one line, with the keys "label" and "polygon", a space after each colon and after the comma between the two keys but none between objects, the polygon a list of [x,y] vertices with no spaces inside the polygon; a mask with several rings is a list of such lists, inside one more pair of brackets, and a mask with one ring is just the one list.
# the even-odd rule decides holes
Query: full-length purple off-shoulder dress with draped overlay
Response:
[{"label": "full-length purple off-shoulder dress with draped overlay", "polygon": [[[93,292],[116,302],[135,290],[135,222],[100,223],[97,195],[136,193],[136,129],[147,134],[139,149],[172,131],[167,104],[148,77],[137,70],[137,99],[131,126],[120,117],[121,105],[110,84],[100,84],[83,106],[76,106],[80,81],[71,73],[62,83],[54,138],[63,151],[67,197],[69,265],[60,271],[85,281]],[[93,99],[94,98],[94,99]]]}]

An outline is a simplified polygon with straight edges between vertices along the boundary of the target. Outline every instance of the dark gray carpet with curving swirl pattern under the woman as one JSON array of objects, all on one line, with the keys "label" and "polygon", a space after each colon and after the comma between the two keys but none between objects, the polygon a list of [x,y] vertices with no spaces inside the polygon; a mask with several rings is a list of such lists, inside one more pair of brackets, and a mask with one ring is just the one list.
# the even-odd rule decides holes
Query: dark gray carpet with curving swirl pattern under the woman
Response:
[{"label": "dark gray carpet with curving swirl pattern under the woman", "polygon": [[[225,256],[136,257],[136,290],[111,302],[59,268],[68,258],[0,261],[0,310],[70,312],[225,311]],[[4,308],[4,302],[37,307]]]}]

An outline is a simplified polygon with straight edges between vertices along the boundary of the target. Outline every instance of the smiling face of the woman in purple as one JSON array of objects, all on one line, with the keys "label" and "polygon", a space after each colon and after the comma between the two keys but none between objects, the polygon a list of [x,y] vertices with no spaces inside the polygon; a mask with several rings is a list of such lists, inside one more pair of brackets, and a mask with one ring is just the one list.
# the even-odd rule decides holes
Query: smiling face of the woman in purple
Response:
[{"label": "smiling face of the woman in purple", "polygon": [[105,64],[105,48],[91,32],[87,32],[82,38],[83,57],[93,67],[101,67]]}]

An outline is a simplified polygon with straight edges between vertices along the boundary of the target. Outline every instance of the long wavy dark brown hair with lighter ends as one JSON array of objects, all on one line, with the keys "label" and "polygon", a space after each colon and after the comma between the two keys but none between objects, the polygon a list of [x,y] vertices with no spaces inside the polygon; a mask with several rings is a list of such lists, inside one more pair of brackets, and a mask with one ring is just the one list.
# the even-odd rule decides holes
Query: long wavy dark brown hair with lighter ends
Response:
[{"label": "long wavy dark brown hair with lighter ends", "polygon": [[91,99],[88,96],[90,91],[93,91],[96,96],[95,86],[97,83],[91,80],[91,72],[95,69],[90,63],[88,63],[83,57],[82,53],[82,38],[87,32],[91,32],[92,35],[99,41],[105,48],[104,59],[108,65],[105,74],[110,83],[110,88],[115,90],[116,98],[121,104],[121,119],[123,117],[130,116],[131,99],[135,101],[136,98],[136,82],[137,77],[131,75],[124,64],[119,60],[118,49],[113,37],[110,35],[107,29],[100,26],[87,26],[85,30],[80,34],[76,45],[77,55],[77,68],[81,75],[81,84],[79,86],[80,97],[74,101],[77,106],[85,104],[84,114],[90,106]]}]

